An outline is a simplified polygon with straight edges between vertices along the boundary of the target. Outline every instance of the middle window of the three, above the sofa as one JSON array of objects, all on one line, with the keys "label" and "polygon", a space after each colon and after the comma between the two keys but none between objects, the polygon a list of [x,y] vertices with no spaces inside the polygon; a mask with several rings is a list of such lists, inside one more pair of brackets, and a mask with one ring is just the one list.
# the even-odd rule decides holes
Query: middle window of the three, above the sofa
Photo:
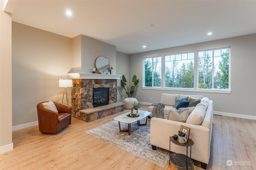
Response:
[{"label": "middle window of the three, above the sofa", "polygon": [[194,88],[194,53],[164,56],[164,87]]}]

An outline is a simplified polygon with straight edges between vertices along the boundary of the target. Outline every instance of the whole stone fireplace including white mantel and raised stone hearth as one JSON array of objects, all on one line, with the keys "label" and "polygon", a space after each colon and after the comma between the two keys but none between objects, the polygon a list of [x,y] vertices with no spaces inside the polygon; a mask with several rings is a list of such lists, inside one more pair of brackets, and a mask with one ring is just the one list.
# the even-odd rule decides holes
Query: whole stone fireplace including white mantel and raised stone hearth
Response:
[{"label": "whole stone fireplace including white mantel and raised stone hearth", "polygon": [[[117,102],[117,79],[120,79],[122,75],[69,73],[68,76],[73,79],[72,117],[90,122],[124,111],[124,103]],[[98,94],[94,94],[95,89],[107,89],[108,99],[102,99]],[[96,98],[94,98],[95,95]],[[103,94],[103,97],[104,95],[106,94]],[[106,105],[96,107],[94,99],[98,100],[98,103],[107,100]]]}]

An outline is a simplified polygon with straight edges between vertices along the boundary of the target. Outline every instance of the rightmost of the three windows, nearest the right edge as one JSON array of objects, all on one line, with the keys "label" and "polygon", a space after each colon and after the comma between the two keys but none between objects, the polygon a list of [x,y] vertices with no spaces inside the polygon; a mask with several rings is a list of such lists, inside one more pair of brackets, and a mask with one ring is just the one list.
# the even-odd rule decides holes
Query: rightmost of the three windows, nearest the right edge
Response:
[{"label": "rightmost of the three windows, nearest the right edge", "polygon": [[198,88],[229,89],[229,51],[198,52]]}]

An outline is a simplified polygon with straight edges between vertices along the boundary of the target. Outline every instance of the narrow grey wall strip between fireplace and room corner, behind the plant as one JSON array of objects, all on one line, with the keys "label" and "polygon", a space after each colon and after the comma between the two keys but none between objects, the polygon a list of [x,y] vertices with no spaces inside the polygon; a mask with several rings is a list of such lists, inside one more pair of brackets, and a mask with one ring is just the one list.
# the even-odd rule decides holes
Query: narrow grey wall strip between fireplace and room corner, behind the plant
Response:
[{"label": "narrow grey wall strip between fireplace and room corner, behind the plant", "polygon": [[[116,74],[124,75],[127,82],[130,82],[128,54],[116,51]],[[124,98],[127,97],[127,94],[125,93],[124,89],[120,87],[120,81],[121,80],[117,80],[117,85],[118,85],[117,101],[118,102],[122,102]]]}]

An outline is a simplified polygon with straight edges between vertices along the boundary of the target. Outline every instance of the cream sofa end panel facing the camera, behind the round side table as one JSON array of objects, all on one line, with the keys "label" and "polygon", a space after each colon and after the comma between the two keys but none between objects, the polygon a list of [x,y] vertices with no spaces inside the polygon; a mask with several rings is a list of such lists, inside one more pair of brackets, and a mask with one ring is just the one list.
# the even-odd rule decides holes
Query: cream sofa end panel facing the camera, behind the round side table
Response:
[{"label": "cream sofa end panel facing the camera, behind the round side table", "polygon": [[[178,134],[180,126],[190,128],[189,138],[194,141],[192,159],[208,164],[210,158],[210,129],[201,125],[192,125],[178,121],[153,117],[150,120],[150,144],[169,150],[170,137]],[[171,143],[171,151],[186,155],[186,148]],[[190,148],[188,149],[190,152]]]}]

